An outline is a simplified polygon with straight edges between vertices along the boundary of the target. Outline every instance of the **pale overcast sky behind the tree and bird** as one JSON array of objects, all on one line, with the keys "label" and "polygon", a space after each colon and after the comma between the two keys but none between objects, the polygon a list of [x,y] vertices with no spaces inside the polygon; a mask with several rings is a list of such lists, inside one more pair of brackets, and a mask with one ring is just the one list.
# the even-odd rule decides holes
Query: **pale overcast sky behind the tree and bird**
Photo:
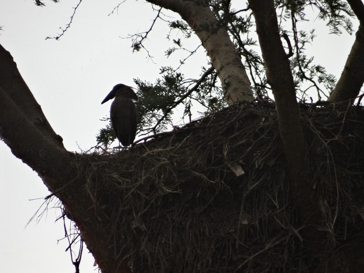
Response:
[{"label": "pale overcast sky behind the tree and bird", "polygon": [[[167,25],[159,21],[150,35],[149,45],[154,62],[145,52],[133,54],[131,41],[120,39],[149,29],[154,18],[151,6],[129,0],[120,5],[118,14],[107,16],[119,1],[83,1],[60,41],[45,40],[60,33],[79,0],[36,7],[32,0],[0,0],[0,43],[13,56],[21,75],[41,105],[55,132],[63,137],[68,150],[89,149],[96,144],[95,135],[104,126],[100,118],[108,115],[109,104],[100,105],[117,83],[135,86],[133,78],[154,82],[161,66],[176,60],[166,59],[164,51],[171,41],[165,40]],[[245,8],[241,7],[241,8]],[[171,14],[171,13],[170,13]],[[177,17],[177,15],[175,15]],[[314,56],[328,72],[340,76],[354,35],[323,35],[323,22],[303,23],[307,29],[318,28]],[[355,29],[356,31],[356,29]],[[172,37],[178,39],[177,36]],[[188,69],[189,76],[206,65],[203,51]],[[186,66],[185,66],[186,67]],[[193,69],[195,67],[195,70]],[[184,74],[185,68],[182,68]],[[195,117],[197,118],[197,117]],[[49,210],[36,224],[28,220],[39,208],[47,188],[30,167],[15,158],[0,142],[0,268],[2,272],[74,272],[62,222],[54,222],[59,211]],[[87,250],[84,254],[87,253]],[[92,272],[94,260],[83,256],[81,272]]]}]

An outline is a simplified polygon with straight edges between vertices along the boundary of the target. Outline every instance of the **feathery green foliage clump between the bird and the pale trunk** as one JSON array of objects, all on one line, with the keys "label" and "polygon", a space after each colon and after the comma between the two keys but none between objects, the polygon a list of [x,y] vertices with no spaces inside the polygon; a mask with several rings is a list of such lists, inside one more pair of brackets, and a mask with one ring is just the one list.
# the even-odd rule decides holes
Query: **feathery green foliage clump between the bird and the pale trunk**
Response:
[{"label": "feathery green foliage clump between the bird and the pale trunk", "polygon": [[[203,70],[206,71],[205,68]],[[134,79],[139,88],[139,130],[145,134],[166,130],[172,122],[172,114],[179,104],[178,101],[181,101],[183,106],[183,116],[191,115],[191,106],[194,103],[203,106],[205,114],[212,113],[225,105],[218,95],[220,88],[217,86],[216,73],[207,76],[199,88],[186,98],[184,97],[188,88],[195,83],[195,80],[185,79],[183,74],[171,67],[162,67],[161,74],[162,78],[154,84]]]}]

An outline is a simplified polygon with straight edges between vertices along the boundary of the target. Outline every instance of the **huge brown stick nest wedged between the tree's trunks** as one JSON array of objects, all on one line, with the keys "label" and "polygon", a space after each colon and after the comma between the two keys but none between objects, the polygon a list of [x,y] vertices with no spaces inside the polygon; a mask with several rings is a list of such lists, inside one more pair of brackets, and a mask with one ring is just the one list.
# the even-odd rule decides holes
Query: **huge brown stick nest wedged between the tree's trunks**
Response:
[{"label": "huge brown stick nest wedged between the tree's trunks", "polygon": [[[364,110],[300,108],[325,223],[317,228],[335,249],[362,235]],[[90,163],[87,190],[95,210],[112,215],[110,247],[127,253],[134,272],[308,272],[274,103],[235,105],[90,157],[100,159]],[[240,176],[230,168],[237,163]]]}]

